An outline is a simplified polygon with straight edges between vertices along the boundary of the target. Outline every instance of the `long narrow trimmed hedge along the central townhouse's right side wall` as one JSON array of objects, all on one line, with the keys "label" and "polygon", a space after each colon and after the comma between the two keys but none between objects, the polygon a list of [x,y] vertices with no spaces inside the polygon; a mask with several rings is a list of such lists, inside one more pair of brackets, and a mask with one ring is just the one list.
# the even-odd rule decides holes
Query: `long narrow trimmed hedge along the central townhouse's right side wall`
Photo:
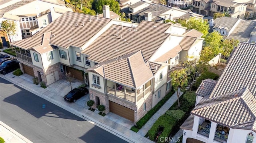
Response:
[{"label": "long narrow trimmed hedge along the central townhouse's right side wall", "polygon": [[142,128],[143,125],[147,123],[147,121],[165,104],[165,102],[174,94],[174,91],[172,90],[169,92],[164,98],[156,104],[154,108],[148,111],[148,113],[142,117],[137,123],[138,129]]}]

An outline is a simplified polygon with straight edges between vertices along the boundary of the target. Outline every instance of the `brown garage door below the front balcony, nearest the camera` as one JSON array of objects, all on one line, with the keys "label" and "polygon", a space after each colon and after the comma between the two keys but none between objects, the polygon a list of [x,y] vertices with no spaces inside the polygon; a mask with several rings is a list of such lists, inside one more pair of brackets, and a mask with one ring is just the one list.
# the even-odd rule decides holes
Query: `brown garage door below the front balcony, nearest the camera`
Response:
[{"label": "brown garage door below the front balcony, nearest the camera", "polygon": [[126,108],[120,104],[116,104],[115,102],[109,101],[109,109],[110,112],[124,117],[128,120],[134,121],[134,110]]}]

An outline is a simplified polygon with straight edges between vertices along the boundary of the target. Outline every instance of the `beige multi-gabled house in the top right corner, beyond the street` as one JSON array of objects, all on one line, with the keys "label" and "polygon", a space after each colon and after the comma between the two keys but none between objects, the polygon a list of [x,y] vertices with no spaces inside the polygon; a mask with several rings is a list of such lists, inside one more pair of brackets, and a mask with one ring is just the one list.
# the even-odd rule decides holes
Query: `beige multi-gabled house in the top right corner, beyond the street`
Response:
[{"label": "beige multi-gabled house in the top right corner, beyond the street", "polygon": [[[248,1],[248,0],[247,0]],[[214,13],[228,13],[232,18],[244,19],[246,4],[236,0],[193,0],[193,12],[212,16]]]}]

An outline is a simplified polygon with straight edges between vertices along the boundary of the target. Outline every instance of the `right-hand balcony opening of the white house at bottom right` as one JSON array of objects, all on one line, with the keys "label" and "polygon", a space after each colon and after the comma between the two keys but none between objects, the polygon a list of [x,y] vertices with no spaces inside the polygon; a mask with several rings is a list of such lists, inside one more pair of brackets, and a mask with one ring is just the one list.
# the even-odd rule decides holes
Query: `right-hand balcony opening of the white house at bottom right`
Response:
[{"label": "right-hand balcony opening of the white house at bottom right", "polygon": [[228,141],[228,133],[229,133],[229,127],[225,127],[220,124],[217,125],[214,141],[218,141],[220,143],[226,143]]}]

